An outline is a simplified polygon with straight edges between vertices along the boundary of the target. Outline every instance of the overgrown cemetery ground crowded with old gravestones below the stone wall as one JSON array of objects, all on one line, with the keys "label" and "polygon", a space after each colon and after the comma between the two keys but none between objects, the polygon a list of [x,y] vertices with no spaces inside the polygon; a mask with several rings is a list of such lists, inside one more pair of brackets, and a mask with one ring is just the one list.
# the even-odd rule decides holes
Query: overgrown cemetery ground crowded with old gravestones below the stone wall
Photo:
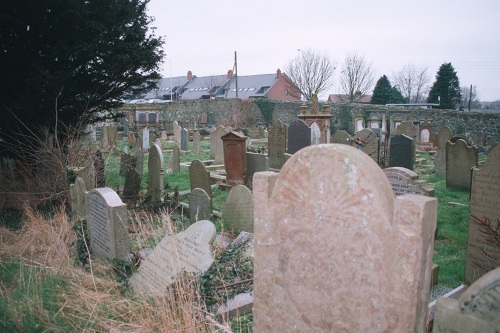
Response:
[{"label": "overgrown cemetery ground crowded with old gravestones below the stone wall", "polygon": [[88,129],[65,205],[0,224],[0,331],[498,332],[498,133],[173,107]]}]

